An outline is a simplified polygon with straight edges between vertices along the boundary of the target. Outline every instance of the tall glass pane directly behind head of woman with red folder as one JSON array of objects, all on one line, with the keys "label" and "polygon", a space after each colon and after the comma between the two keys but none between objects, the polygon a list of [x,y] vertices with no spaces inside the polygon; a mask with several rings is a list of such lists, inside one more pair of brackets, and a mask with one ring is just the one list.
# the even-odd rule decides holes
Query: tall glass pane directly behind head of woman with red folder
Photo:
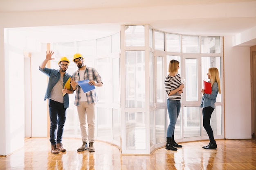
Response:
[{"label": "tall glass pane directly behind head of woman with red folder", "polygon": [[[202,57],[202,80],[203,81],[208,82],[210,80],[207,76],[207,73],[208,73],[209,68],[212,68],[212,67],[218,68],[219,74],[221,75],[220,57]],[[202,81],[202,87],[204,87],[203,81]],[[221,77],[220,77],[220,84],[221,84]],[[216,102],[221,102],[221,94],[219,94],[219,93],[216,98]]]}]

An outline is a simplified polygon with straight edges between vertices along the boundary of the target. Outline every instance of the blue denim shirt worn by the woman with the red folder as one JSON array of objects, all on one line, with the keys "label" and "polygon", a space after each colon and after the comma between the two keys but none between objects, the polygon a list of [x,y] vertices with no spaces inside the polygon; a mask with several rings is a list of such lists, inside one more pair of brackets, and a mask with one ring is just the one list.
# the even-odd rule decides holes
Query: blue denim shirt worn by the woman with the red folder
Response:
[{"label": "blue denim shirt worn by the woman with the red folder", "polygon": [[214,82],[211,87],[211,94],[205,93],[203,95],[200,107],[204,108],[204,107],[210,106],[213,109],[215,109],[215,102],[216,102],[218,92],[219,92],[218,83]]}]

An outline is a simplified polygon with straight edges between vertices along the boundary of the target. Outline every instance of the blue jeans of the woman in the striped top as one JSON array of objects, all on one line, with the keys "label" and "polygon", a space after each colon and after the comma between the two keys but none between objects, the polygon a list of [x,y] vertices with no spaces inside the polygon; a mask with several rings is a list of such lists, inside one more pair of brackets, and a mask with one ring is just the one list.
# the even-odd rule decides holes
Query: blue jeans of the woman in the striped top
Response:
[{"label": "blue jeans of the woman in the striped top", "polygon": [[177,118],[180,114],[180,100],[167,99],[167,110],[170,119],[170,123],[167,128],[166,137],[172,137]]}]

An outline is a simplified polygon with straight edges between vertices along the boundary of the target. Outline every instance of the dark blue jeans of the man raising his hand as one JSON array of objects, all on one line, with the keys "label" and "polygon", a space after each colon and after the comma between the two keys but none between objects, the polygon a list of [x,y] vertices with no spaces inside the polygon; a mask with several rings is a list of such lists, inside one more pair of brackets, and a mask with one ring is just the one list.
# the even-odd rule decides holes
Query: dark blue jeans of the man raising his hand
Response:
[{"label": "dark blue jeans of the man raising his hand", "polygon": [[52,145],[55,145],[56,143],[59,144],[62,142],[64,124],[66,121],[66,108],[64,108],[63,103],[49,99],[49,115],[51,122],[50,142]]}]

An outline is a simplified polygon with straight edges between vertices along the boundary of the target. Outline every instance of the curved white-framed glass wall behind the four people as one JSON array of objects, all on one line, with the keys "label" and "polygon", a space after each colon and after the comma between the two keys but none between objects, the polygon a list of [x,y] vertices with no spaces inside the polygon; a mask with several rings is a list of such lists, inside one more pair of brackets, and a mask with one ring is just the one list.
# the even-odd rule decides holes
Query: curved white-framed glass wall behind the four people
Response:
[{"label": "curved white-framed glass wall behind the four people", "polygon": [[[96,88],[96,139],[115,144],[124,154],[150,154],[166,143],[169,123],[164,77],[171,59],[180,61],[185,84],[182,108],[175,126],[176,142],[208,139],[202,126],[200,89],[210,67],[222,81],[222,37],[179,35],[149,25],[123,25],[120,33],[90,41],[54,43],[55,56],[72,61],[79,52],[85,65],[96,68],[103,87]],[[54,62],[54,61],[53,61]],[[54,64],[53,64],[54,65]],[[68,72],[77,70],[71,62]],[[223,86],[223,85],[222,85]],[[70,95],[66,137],[81,137],[74,96]],[[223,138],[223,100],[218,94],[211,125]]]}]

